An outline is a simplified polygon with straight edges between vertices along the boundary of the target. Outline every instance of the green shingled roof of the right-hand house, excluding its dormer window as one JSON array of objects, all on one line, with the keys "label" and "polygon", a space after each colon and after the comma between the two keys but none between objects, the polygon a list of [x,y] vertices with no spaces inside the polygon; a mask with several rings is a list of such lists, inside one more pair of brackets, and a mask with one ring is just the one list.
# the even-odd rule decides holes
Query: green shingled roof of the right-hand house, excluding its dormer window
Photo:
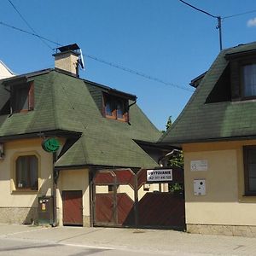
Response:
[{"label": "green shingled roof of the right-hand house, excluding its dormer window", "polygon": [[[160,143],[180,145],[255,137],[256,102],[231,102],[227,90],[230,82],[224,78],[224,73],[229,70],[227,55],[249,53],[255,49],[256,43],[252,43],[221,51],[182,113],[160,138]],[[209,102],[208,98],[214,94],[216,86],[219,90],[225,91],[224,100]]]}]

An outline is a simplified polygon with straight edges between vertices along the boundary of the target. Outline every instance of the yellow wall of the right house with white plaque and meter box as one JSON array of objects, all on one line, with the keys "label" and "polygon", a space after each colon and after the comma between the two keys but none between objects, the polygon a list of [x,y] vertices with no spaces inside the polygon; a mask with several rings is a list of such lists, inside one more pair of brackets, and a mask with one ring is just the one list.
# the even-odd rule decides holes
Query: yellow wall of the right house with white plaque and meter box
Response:
[{"label": "yellow wall of the right house with white plaque and meter box", "polygon": [[[256,225],[256,197],[244,196],[242,147],[256,141],[183,145],[187,224]],[[190,171],[207,160],[207,171]],[[194,179],[206,180],[206,195],[194,195]]]}]

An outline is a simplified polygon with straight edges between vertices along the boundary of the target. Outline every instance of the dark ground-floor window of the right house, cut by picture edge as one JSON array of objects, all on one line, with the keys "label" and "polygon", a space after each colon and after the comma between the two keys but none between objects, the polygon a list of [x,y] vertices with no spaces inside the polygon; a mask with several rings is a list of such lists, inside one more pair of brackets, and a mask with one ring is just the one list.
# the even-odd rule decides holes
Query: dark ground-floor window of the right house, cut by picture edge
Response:
[{"label": "dark ground-floor window of the right house, cut by picture edge", "polygon": [[256,146],[243,148],[245,195],[256,195]]}]

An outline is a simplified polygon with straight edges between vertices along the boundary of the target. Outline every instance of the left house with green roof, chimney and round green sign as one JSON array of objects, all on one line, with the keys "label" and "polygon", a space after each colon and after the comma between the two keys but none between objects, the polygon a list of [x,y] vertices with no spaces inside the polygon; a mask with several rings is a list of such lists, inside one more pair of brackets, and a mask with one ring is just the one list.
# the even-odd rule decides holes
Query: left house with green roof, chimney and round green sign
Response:
[{"label": "left house with green roof, chimney and round green sign", "polygon": [[79,79],[79,55],[67,45],[54,69],[0,81],[0,223],[89,226],[98,170],[158,166],[161,133],[137,96]]}]

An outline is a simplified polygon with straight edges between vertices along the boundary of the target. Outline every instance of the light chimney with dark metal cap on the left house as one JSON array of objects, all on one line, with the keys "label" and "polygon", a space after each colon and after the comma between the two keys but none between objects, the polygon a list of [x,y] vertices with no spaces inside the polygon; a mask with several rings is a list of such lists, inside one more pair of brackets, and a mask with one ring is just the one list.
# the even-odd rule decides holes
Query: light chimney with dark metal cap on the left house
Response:
[{"label": "light chimney with dark metal cap on the left house", "polygon": [[75,77],[79,77],[79,55],[78,44],[69,44],[56,49],[55,68],[65,71]]}]

